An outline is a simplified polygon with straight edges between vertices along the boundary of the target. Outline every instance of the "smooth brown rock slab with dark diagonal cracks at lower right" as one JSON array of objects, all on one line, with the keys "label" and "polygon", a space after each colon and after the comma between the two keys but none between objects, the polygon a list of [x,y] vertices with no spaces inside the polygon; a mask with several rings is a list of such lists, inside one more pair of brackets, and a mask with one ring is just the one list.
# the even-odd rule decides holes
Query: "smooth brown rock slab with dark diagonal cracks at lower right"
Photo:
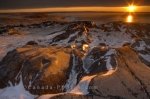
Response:
[{"label": "smooth brown rock slab with dark diagonal cracks at lower right", "polygon": [[118,52],[117,69],[95,77],[90,83],[91,94],[114,99],[149,99],[149,69],[128,46]]}]

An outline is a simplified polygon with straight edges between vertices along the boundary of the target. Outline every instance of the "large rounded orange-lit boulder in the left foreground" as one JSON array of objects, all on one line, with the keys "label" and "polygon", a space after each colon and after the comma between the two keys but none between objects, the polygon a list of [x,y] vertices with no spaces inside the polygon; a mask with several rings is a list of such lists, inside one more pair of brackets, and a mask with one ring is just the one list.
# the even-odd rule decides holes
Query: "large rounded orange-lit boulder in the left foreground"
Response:
[{"label": "large rounded orange-lit boulder in the left foreground", "polygon": [[[69,83],[70,69],[76,71],[77,81],[82,74],[80,58],[74,55],[77,60],[72,59],[71,53],[71,49],[59,47],[26,45],[17,48],[0,62],[0,88],[6,87],[9,81],[13,84],[19,82],[19,76],[22,76],[25,89],[32,94],[64,92]],[[77,65],[73,64],[74,61]]]}]

